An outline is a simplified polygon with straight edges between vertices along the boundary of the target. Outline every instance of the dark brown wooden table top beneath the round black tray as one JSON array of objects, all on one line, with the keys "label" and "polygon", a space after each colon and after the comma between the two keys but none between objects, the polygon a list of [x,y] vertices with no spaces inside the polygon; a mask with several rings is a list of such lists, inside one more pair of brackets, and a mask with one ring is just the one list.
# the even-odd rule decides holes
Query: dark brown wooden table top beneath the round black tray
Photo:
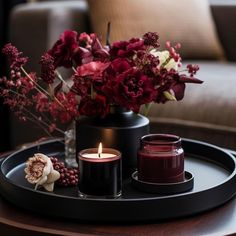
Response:
[{"label": "dark brown wooden table top beneath the round black tray", "polygon": [[[0,155],[1,157],[1,155]],[[58,206],[60,207],[60,206]],[[125,214],[125,212],[124,212]],[[0,197],[0,235],[236,235],[236,197],[211,211],[162,222],[94,224],[49,218],[20,209]]]}]

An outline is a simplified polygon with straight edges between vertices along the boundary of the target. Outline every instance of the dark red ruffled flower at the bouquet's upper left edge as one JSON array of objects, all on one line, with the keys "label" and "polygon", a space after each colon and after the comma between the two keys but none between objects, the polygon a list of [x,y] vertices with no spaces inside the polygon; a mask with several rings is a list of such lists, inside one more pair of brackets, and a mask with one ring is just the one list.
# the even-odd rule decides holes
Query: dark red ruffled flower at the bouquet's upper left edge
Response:
[{"label": "dark red ruffled flower at the bouquet's upper left edge", "polygon": [[78,48],[77,32],[66,30],[48,53],[54,58],[54,66],[70,68],[73,65],[73,56]]}]

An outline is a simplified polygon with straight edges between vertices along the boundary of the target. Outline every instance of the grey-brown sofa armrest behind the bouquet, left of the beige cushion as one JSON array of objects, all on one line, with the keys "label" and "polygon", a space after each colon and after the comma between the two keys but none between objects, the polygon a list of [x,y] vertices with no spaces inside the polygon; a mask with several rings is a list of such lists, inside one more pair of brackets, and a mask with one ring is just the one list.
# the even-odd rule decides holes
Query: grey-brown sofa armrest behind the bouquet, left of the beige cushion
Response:
[{"label": "grey-brown sofa armrest behind the bouquet, left of the beige cushion", "polygon": [[87,9],[87,2],[79,0],[25,3],[12,10],[9,41],[30,58],[28,70],[39,71],[40,56],[64,30],[89,31]]}]

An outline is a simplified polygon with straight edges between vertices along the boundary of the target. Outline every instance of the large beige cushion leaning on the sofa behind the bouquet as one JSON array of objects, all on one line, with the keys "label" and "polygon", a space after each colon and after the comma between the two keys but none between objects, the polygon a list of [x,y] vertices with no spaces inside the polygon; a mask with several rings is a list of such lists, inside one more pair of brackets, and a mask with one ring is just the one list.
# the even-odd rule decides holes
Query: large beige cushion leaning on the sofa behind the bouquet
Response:
[{"label": "large beige cushion leaning on the sofa behind the bouquet", "polygon": [[158,32],[160,41],[182,44],[184,58],[220,58],[207,0],[88,0],[92,29],[105,41],[111,22],[111,42]]}]

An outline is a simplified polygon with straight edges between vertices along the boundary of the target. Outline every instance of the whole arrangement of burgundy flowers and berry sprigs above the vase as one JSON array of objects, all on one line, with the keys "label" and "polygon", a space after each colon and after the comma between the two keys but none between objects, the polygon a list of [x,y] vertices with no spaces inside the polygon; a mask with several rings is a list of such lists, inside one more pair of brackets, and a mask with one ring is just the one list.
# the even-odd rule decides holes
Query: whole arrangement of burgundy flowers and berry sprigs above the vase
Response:
[{"label": "whole arrangement of burgundy flowers and berry sprigs above the vase", "polygon": [[[40,75],[27,72],[28,58],[7,44],[3,53],[11,71],[9,78],[0,79],[0,96],[21,120],[49,131],[59,131],[58,121],[82,115],[105,117],[111,104],[138,113],[142,105],[181,100],[186,83],[202,83],[194,77],[199,67],[181,69],[180,44],[167,42],[160,51],[158,40],[148,32],[103,46],[96,34],[67,30],[42,55]],[[72,71],[69,81],[59,67]]]}]

